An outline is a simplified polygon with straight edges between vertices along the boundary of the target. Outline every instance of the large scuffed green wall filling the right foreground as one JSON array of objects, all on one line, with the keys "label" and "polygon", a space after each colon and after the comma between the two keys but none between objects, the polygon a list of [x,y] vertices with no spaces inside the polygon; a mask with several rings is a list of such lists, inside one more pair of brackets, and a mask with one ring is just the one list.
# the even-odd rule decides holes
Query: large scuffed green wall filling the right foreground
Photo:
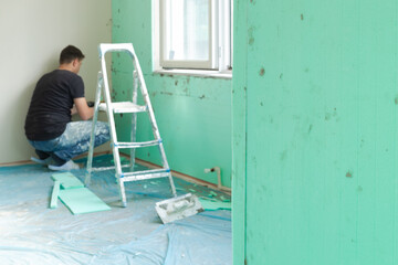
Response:
[{"label": "large scuffed green wall filling the right foreground", "polygon": [[397,2],[235,3],[234,264],[397,264]]}]

